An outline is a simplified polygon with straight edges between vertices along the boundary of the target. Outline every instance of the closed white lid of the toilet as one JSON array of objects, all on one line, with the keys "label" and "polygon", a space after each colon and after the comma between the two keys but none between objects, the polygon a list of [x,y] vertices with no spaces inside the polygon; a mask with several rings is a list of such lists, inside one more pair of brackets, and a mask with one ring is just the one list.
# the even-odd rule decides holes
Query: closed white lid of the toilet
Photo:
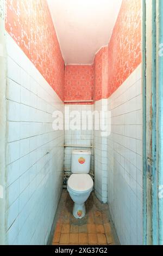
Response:
[{"label": "closed white lid of the toilet", "polygon": [[71,189],[83,192],[93,187],[93,180],[89,174],[72,174],[67,184]]}]

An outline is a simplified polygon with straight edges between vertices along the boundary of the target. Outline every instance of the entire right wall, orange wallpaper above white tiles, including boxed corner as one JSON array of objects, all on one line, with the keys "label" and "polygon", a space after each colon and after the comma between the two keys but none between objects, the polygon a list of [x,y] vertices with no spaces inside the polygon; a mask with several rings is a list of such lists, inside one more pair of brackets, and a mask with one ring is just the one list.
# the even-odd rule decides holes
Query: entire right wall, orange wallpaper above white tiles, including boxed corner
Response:
[{"label": "entire right wall, orange wallpaper above white tiles, including boxed corner", "polygon": [[97,131],[94,136],[95,192],[105,202],[108,183],[108,203],[122,244],[142,244],[140,63],[141,1],[122,1],[109,45],[94,62],[95,110],[102,110],[106,99],[111,111],[109,139]]}]

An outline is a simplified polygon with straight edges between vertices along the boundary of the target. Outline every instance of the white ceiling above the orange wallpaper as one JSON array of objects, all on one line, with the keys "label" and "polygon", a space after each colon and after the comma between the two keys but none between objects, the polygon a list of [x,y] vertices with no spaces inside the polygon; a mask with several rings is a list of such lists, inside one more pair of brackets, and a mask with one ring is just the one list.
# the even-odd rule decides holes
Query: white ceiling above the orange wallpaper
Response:
[{"label": "white ceiling above the orange wallpaper", "polygon": [[122,0],[47,0],[66,64],[92,64],[109,43]]}]

